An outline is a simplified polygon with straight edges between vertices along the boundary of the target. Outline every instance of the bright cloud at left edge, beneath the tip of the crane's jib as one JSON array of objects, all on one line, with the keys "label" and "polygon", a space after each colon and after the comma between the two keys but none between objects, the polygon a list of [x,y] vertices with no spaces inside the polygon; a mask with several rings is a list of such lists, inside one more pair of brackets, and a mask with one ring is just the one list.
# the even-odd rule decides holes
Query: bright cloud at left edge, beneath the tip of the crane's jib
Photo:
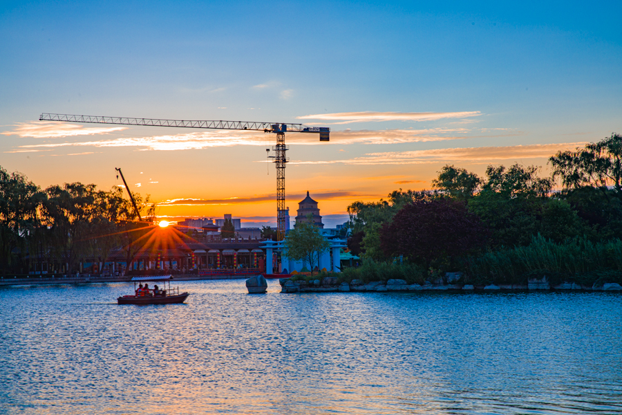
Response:
[{"label": "bright cloud at left edge, beneath the tip of the crane's jib", "polygon": [[94,136],[96,134],[108,134],[114,131],[123,131],[128,127],[84,127],[80,124],[68,122],[41,122],[29,121],[18,122],[12,131],[3,131],[5,136],[19,136],[32,138],[59,138],[73,136]]}]

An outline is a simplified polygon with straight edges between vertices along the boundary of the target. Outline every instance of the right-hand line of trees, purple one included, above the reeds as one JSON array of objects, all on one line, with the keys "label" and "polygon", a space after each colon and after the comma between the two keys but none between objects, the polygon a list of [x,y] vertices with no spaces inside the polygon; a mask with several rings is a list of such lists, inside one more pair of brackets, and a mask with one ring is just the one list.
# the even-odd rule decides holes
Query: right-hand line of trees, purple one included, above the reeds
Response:
[{"label": "right-hand line of trees, purple one included, above the reeds", "polygon": [[[605,243],[622,234],[622,136],[549,158],[552,176],[534,166],[490,165],[484,177],[446,165],[432,190],[397,190],[375,203],[348,206],[355,255],[402,255],[428,266],[457,258],[582,238]],[[556,181],[561,191],[554,192]]]}]

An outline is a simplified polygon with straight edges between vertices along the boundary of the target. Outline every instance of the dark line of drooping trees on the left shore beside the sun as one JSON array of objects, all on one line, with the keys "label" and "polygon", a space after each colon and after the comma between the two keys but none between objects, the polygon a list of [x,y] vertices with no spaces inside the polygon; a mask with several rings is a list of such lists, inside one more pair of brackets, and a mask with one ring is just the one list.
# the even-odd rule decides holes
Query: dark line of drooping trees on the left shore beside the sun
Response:
[{"label": "dark line of drooping trees on the left shore beside the sun", "polygon": [[[75,273],[80,261],[105,261],[113,248],[124,248],[129,262],[148,224],[138,222],[123,192],[82,183],[41,190],[0,167],[1,272],[28,273],[34,261],[45,260],[48,270]],[[145,216],[153,215],[149,197],[134,198]]]}]

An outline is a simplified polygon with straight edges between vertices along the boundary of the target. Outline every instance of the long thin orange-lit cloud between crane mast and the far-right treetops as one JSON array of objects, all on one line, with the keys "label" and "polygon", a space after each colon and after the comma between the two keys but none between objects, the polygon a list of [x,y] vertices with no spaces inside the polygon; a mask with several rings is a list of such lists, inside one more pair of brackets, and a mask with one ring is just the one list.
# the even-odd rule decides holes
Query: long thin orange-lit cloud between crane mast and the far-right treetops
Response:
[{"label": "long thin orange-lit cloud between crane mast and the far-right treetops", "polygon": [[349,160],[290,161],[290,164],[347,164],[347,165],[408,165],[422,163],[448,163],[452,161],[491,163],[494,160],[517,160],[519,158],[548,158],[557,151],[575,149],[585,142],[558,144],[515,145],[508,147],[468,147],[417,151],[390,151],[368,153]]}]

